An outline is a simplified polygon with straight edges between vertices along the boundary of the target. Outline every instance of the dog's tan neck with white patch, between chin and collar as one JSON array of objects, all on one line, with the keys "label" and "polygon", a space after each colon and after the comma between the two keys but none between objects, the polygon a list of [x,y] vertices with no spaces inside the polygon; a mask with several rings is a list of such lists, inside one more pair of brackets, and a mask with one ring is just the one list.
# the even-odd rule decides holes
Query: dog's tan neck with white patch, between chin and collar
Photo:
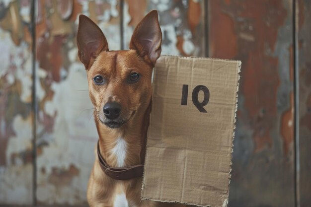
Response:
[{"label": "dog's tan neck with white patch, between chin and collar", "polygon": [[99,147],[102,157],[111,167],[142,164],[149,126],[151,104],[144,113],[137,113],[129,122],[118,129],[110,129],[96,121]]}]

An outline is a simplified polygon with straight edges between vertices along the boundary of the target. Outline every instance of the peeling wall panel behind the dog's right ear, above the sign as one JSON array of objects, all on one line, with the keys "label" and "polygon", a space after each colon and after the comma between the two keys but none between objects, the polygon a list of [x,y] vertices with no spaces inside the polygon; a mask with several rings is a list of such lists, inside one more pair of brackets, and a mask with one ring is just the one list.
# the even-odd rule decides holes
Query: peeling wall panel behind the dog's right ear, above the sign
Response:
[{"label": "peeling wall panel behind the dog's right ear, above the sign", "polygon": [[205,56],[203,0],[125,0],[125,49],[135,26],[152,9],[159,14],[163,35],[161,55]]}]

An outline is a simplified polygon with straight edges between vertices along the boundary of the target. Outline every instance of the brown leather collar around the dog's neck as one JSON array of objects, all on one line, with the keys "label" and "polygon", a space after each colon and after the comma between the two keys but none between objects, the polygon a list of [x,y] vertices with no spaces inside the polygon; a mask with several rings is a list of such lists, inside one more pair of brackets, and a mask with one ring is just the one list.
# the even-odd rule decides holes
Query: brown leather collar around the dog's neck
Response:
[{"label": "brown leather collar around the dog's neck", "polygon": [[[144,146],[144,145],[143,145]],[[105,159],[100,154],[99,140],[97,142],[97,155],[99,160],[100,168],[106,175],[115,180],[130,180],[143,176],[144,165],[134,165],[128,167],[110,167]]]}]

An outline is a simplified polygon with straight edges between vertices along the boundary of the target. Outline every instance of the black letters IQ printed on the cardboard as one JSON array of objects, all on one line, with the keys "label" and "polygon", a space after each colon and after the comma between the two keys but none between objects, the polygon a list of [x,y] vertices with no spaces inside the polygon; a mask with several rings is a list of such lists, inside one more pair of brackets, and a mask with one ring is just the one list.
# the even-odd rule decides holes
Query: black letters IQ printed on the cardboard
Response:
[{"label": "black letters IQ printed on the cardboard", "polygon": [[[202,91],[204,93],[204,99],[202,102],[199,101],[199,92]],[[197,85],[192,91],[192,102],[197,107],[197,109],[202,113],[207,113],[204,109],[204,106],[210,100],[210,91],[204,85]],[[188,85],[182,85],[182,92],[181,92],[181,105],[186,106],[188,101]]]}]

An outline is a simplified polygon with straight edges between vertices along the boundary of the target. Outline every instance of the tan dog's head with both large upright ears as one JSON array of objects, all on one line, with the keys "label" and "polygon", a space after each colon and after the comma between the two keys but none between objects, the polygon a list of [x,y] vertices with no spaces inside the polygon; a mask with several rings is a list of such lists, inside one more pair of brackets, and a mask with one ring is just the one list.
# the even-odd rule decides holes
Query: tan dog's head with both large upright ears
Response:
[{"label": "tan dog's head with both large upright ears", "polygon": [[100,28],[88,17],[79,16],[78,57],[87,70],[89,96],[98,121],[119,128],[146,111],[161,41],[156,10],[136,26],[129,51],[109,51]]}]

